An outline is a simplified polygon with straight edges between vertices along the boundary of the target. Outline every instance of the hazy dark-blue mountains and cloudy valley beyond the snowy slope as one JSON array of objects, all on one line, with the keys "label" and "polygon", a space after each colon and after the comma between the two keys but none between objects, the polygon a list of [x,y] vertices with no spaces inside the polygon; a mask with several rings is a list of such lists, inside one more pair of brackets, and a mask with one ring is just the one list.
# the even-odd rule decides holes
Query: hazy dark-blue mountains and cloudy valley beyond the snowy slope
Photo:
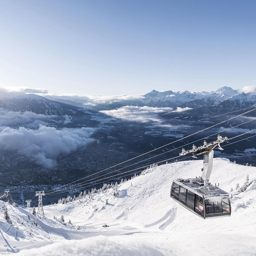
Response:
[{"label": "hazy dark-blue mountains and cloudy valley beyond the snowy slope", "polygon": [[[65,183],[149,151],[154,158],[138,167],[175,158],[179,147],[187,143],[198,140],[197,145],[201,145],[205,138],[215,140],[217,133],[232,138],[253,130],[254,111],[232,118],[253,110],[255,105],[256,91],[245,93],[229,87],[214,92],[153,90],[145,95],[120,96],[3,94],[2,184]],[[230,121],[207,129],[227,119]],[[201,130],[205,131],[197,133]],[[218,154],[254,165],[255,138],[233,143]]]}]

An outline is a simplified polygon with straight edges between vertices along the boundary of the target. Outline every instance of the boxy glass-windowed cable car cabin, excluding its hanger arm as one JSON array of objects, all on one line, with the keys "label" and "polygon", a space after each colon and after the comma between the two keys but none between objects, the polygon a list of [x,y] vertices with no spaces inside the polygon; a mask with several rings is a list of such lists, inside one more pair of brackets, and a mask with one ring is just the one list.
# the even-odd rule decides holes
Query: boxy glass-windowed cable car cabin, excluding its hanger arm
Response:
[{"label": "boxy glass-windowed cable car cabin, excluding its hanger arm", "polygon": [[174,180],[170,197],[204,219],[231,215],[228,193],[211,184],[204,186],[200,178]]}]

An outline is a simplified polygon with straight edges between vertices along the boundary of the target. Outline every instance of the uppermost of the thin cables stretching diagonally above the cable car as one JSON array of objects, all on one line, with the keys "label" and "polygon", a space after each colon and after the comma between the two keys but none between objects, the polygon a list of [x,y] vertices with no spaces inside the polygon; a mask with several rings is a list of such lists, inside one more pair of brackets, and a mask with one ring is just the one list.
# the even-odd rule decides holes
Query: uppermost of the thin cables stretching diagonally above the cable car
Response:
[{"label": "uppermost of the thin cables stretching diagonally above the cable car", "polygon": [[[78,182],[78,181],[80,181],[80,180],[89,178],[89,177],[91,177],[91,176],[93,176],[93,175],[102,173],[102,172],[104,172],[105,170],[111,169],[111,168],[116,167],[116,166],[118,166],[118,165],[120,165],[120,164],[129,162],[129,161],[134,160],[134,159],[136,159],[136,158],[138,158],[138,157],[141,157],[141,156],[144,156],[144,155],[146,155],[146,154],[152,153],[152,152],[154,152],[154,151],[156,151],[156,150],[159,150],[160,148],[163,148],[163,147],[165,147],[165,146],[167,146],[167,145],[170,145],[170,144],[173,144],[173,143],[175,143],[175,142],[181,141],[181,140],[183,140],[183,139],[186,139],[186,138],[188,138],[188,137],[191,137],[191,136],[193,136],[193,135],[196,135],[196,134],[198,134],[198,133],[201,133],[201,132],[203,132],[203,131],[206,131],[206,130],[208,130],[208,129],[211,129],[212,127],[215,127],[215,126],[217,126],[217,125],[219,125],[219,124],[222,124],[222,123],[225,123],[225,122],[227,122],[227,121],[230,121],[230,120],[232,120],[232,119],[234,119],[234,118],[240,117],[240,116],[242,116],[242,115],[248,114],[248,113],[250,113],[250,112],[252,112],[252,111],[255,111],[255,110],[256,110],[256,108],[255,108],[255,109],[252,109],[252,110],[250,110],[250,111],[247,111],[247,112],[245,112],[245,113],[242,113],[242,114],[240,114],[240,115],[231,117],[231,118],[229,118],[229,119],[227,119],[227,120],[225,120],[225,121],[222,121],[222,122],[220,122],[220,123],[214,124],[214,125],[212,125],[212,126],[210,126],[210,127],[207,127],[207,128],[205,128],[205,129],[203,129],[203,130],[201,130],[201,131],[198,131],[198,132],[196,132],[196,133],[194,133],[194,134],[185,136],[185,137],[183,137],[183,138],[181,138],[181,139],[178,139],[178,140],[176,140],[176,141],[170,142],[170,143],[165,144],[165,145],[163,145],[163,146],[161,146],[161,147],[155,148],[155,149],[152,150],[152,151],[146,152],[146,153],[141,154],[141,155],[139,155],[139,156],[137,156],[137,157],[131,158],[131,159],[129,159],[129,160],[123,161],[123,162],[118,163],[118,164],[116,164],[116,165],[113,165],[113,166],[111,166],[111,167],[105,168],[105,169],[103,169],[103,170],[100,170],[99,172],[96,172],[96,173],[91,174],[91,175],[89,175],[89,176],[80,178],[80,179],[78,179],[78,180],[76,180],[76,181],[73,181],[73,182],[70,182],[70,183],[68,183],[68,184],[62,185],[62,186],[60,186],[60,188],[61,188],[61,187],[65,187],[65,186],[70,185],[70,184],[73,184],[73,183],[75,183],[75,182]],[[252,121],[252,120],[249,120],[249,121]],[[247,121],[247,122],[248,122],[248,121]],[[183,145],[183,146],[184,146],[184,145]],[[176,148],[175,148],[175,149],[176,149]],[[166,153],[167,153],[167,152],[166,152]],[[162,154],[163,154],[163,153],[162,153]],[[116,172],[116,171],[117,171],[117,170],[115,170],[115,172]],[[49,192],[50,192],[50,191],[55,191],[55,190],[52,189],[52,190],[49,190]],[[49,193],[49,192],[48,192],[48,193]]]}]

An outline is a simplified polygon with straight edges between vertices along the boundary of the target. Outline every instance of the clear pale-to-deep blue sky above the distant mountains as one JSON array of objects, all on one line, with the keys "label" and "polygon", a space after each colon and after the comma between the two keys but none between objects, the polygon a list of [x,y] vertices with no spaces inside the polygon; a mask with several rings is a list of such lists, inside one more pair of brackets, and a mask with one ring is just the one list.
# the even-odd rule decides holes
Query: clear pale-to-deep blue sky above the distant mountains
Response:
[{"label": "clear pale-to-deep blue sky above the distant mountains", "polygon": [[0,1],[0,87],[119,95],[256,83],[256,1]]}]

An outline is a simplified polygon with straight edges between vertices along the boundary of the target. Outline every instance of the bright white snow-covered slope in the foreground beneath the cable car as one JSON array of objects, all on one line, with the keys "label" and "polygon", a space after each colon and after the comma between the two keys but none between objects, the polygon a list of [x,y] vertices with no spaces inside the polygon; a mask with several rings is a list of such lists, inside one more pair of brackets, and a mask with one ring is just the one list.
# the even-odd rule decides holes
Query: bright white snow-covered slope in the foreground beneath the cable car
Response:
[{"label": "bright white snow-covered slope in the foreground beneath the cable car", "polygon": [[[24,229],[23,236],[14,231],[24,226],[17,218],[25,222],[30,213],[12,207],[13,224],[1,218],[0,250],[29,248],[20,251],[21,255],[255,255],[256,167],[223,158],[214,160],[211,183],[220,183],[228,192],[233,188],[232,214],[208,220],[187,211],[169,196],[174,178],[199,176],[201,167],[201,160],[165,164],[86,199],[45,206],[46,220],[33,217],[39,227],[33,226],[32,238]],[[239,193],[237,183],[241,187],[247,175],[251,184]],[[114,191],[118,197],[113,196]],[[64,226],[53,220],[61,215],[72,224]],[[102,227],[104,224],[108,227]],[[13,231],[8,233],[11,227]],[[39,247],[60,240],[76,241],[31,249],[31,242]]]}]

